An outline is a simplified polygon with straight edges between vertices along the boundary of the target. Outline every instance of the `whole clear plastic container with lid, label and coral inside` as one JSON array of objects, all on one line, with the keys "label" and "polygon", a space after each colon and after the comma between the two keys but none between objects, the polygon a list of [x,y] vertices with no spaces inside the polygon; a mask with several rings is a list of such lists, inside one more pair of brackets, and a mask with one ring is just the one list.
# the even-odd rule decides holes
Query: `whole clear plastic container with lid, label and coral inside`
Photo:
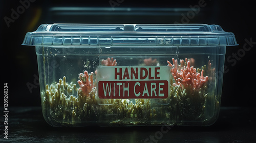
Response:
[{"label": "whole clear plastic container with lid, label and coral inside", "polygon": [[209,126],[237,42],[218,25],[45,24],[23,44],[52,126]]}]

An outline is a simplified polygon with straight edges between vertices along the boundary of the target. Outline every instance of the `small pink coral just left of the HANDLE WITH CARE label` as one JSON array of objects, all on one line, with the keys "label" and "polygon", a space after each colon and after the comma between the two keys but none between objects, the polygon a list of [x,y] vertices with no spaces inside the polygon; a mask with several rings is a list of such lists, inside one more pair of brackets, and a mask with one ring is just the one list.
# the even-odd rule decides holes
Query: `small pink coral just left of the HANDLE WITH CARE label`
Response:
[{"label": "small pink coral just left of the HANDLE WITH CARE label", "polygon": [[[90,77],[90,78],[89,78]],[[89,96],[89,93],[92,91],[93,85],[93,72],[88,74],[88,71],[84,71],[84,74],[79,74],[79,79],[77,83],[79,84],[80,88],[78,90],[82,90],[82,96]]]}]

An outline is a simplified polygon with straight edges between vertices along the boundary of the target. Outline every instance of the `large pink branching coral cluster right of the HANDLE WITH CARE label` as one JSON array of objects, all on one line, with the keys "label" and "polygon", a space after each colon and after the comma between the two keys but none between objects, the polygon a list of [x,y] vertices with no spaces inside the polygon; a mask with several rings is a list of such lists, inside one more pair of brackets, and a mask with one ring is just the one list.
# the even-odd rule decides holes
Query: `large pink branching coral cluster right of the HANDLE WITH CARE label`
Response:
[{"label": "large pink branching coral cluster right of the HANDLE WITH CARE label", "polygon": [[170,72],[175,80],[173,86],[180,85],[182,87],[183,85],[185,88],[193,87],[199,91],[200,88],[202,88],[208,82],[208,76],[203,76],[204,70],[202,69],[201,75],[200,73],[197,73],[196,68],[193,66],[190,67],[190,62],[187,58],[185,59],[186,62],[184,62],[184,60],[180,60],[180,65],[178,65],[178,61],[174,60],[174,58],[172,60],[173,64],[169,61],[167,61],[167,63],[168,66],[172,67]]}]

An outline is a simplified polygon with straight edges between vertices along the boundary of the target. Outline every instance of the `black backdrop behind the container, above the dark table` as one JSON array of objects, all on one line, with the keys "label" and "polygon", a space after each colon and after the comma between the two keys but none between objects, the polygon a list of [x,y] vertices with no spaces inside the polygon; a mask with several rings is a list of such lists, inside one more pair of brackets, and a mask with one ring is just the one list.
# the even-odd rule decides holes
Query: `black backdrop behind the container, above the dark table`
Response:
[{"label": "black backdrop behind the container, above the dark table", "polygon": [[[24,2],[25,0],[22,0]],[[32,1],[32,0],[31,0]],[[236,63],[227,60],[243,49],[246,40],[256,42],[255,5],[250,1],[209,1],[205,7],[182,21],[198,5],[197,1],[39,1],[30,2],[9,27],[4,17],[11,18],[12,9],[22,6],[19,1],[1,1],[1,52],[3,83],[8,83],[9,106],[40,106],[39,86],[32,92],[27,83],[34,84],[38,76],[35,47],[21,45],[27,32],[35,31],[42,23],[206,23],[220,25],[224,31],[232,32],[239,46],[228,46],[223,76],[221,106],[252,107],[255,102],[255,47]],[[114,4],[114,3],[112,3]],[[62,7],[62,8],[59,8]],[[63,8],[66,7],[66,8]],[[72,9],[67,9],[72,7]],[[78,8],[79,7],[79,8]],[[153,8],[153,9],[148,9]],[[247,45],[248,47],[248,45]],[[241,50],[240,50],[241,51]],[[232,58],[234,59],[234,58]],[[1,107],[2,108],[2,107]],[[2,110],[2,109],[1,109]]]}]

